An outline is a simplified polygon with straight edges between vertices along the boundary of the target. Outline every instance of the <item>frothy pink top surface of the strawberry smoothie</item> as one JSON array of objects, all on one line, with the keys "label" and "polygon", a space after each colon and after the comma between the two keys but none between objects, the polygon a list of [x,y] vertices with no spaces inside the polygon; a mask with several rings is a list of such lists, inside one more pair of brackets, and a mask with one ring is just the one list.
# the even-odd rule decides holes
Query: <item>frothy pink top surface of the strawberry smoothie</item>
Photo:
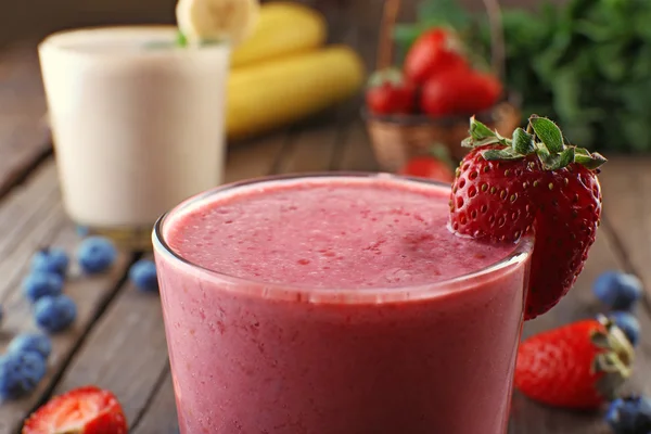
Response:
[{"label": "frothy pink top surface of the strawberry smoothie", "polygon": [[167,222],[166,238],[220,273],[330,289],[432,283],[513,252],[450,233],[448,197],[446,188],[391,179],[285,181],[190,207]]}]

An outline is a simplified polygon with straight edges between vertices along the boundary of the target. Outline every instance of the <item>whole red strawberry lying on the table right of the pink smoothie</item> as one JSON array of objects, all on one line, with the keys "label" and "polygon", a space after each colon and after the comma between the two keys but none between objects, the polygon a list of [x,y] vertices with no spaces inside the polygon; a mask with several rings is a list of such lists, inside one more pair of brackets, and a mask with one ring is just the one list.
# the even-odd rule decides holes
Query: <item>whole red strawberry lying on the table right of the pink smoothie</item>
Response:
[{"label": "whole red strawberry lying on the table right of the pink smoothie", "polygon": [[630,375],[633,359],[622,330],[600,316],[524,341],[518,350],[515,387],[550,406],[595,409],[615,397]]}]

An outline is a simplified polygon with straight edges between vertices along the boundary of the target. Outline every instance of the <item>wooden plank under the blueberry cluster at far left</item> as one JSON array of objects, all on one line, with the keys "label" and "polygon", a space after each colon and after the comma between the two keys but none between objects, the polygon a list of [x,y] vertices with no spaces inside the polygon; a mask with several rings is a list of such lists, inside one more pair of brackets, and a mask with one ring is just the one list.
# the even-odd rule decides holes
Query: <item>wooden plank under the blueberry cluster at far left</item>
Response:
[{"label": "wooden plank under the blueberry cluster at far left", "polygon": [[[58,191],[52,192],[48,186],[56,186],[52,161],[37,170],[23,188],[15,189],[0,207],[0,228],[2,233],[7,233],[7,239],[0,243],[0,252],[4,253],[0,253],[0,272],[3,276],[0,294],[7,310],[0,335],[0,352],[5,349],[15,333],[36,329],[30,306],[20,290],[20,282],[27,272],[31,254],[39,246],[50,244],[74,252],[79,241],[73,226],[67,222],[61,203],[52,201],[52,197],[58,197]],[[80,277],[78,268],[73,267],[65,292],[77,304],[77,321],[69,331],[53,336],[48,374],[38,390],[29,397],[0,405],[0,434],[15,433],[29,411],[48,396],[67,365],[69,355],[114,295],[124,276],[126,263],[126,255],[120,254],[110,273],[92,278]]]}]

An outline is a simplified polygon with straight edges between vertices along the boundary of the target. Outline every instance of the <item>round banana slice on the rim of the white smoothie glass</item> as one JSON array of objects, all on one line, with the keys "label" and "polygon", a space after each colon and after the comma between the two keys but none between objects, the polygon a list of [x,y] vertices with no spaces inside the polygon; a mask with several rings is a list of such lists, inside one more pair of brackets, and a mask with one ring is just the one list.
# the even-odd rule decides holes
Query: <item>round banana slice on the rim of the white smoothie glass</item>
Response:
[{"label": "round banana slice on the rim of the white smoothie glass", "polygon": [[191,42],[228,40],[238,44],[255,28],[258,0],[179,0],[177,24]]}]

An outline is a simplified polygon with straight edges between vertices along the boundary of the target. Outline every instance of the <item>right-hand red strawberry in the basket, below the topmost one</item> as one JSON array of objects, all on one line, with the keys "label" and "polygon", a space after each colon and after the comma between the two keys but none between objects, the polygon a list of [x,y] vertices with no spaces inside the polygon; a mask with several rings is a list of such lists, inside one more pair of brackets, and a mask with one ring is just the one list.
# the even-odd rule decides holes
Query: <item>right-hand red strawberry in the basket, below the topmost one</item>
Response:
[{"label": "right-hand red strawberry in the basket, below the topmost one", "polygon": [[420,105],[432,117],[476,114],[495,105],[501,92],[501,84],[490,74],[447,69],[427,78]]}]

